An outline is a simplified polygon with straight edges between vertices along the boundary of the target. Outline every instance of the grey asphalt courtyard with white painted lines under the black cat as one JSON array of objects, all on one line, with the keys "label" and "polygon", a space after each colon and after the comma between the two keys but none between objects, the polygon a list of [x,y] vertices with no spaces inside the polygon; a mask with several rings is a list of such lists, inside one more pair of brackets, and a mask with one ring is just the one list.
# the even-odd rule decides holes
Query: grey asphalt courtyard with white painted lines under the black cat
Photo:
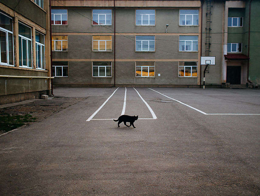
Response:
[{"label": "grey asphalt courtyard with white painted lines under the black cat", "polygon": [[0,137],[0,195],[260,195],[258,89],[54,94],[86,99]]}]

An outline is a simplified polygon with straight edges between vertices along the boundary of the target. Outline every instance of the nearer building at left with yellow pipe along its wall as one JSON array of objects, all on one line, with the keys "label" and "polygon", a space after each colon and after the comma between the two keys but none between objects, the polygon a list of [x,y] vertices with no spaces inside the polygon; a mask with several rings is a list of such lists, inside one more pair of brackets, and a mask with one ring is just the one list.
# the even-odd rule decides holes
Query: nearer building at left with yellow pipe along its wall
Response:
[{"label": "nearer building at left with yellow pipe along its wall", "polygon": [[51,93],[50,1],[0,0],[0,104]]}]

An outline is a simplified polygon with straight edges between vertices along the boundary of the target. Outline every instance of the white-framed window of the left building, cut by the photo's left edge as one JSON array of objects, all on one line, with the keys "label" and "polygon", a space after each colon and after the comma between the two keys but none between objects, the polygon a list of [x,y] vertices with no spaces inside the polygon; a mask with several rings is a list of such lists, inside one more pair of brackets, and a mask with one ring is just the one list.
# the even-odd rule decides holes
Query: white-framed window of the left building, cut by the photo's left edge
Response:
[{"label": "white-framed window of the left building, cut by the photo's left edge", "polygon": [[0,64],[14,65],[12,18],[0,13]]}]

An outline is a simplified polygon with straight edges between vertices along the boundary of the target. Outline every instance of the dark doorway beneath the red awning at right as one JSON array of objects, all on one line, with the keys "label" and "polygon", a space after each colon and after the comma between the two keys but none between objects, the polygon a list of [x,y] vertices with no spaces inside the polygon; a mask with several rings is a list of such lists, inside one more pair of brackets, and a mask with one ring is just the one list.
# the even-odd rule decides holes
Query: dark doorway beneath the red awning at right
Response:
[{"label": "dark doorway beneath the red awning at right", "polygon": [[241,84],[241,66],[227,66],[227,82]]}]

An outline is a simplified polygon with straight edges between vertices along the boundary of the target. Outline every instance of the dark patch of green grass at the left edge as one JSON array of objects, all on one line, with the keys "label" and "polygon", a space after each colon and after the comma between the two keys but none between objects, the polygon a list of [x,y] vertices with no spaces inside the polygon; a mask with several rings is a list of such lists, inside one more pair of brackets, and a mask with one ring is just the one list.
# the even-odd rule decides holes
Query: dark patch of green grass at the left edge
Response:
[{"label": "dark patch of green grass at the left edge", "polygon": [[7,113],[1,113],[0,131],[8,132],[35,120],[36,118],[33,118],[30,114],[10,115]]}]

